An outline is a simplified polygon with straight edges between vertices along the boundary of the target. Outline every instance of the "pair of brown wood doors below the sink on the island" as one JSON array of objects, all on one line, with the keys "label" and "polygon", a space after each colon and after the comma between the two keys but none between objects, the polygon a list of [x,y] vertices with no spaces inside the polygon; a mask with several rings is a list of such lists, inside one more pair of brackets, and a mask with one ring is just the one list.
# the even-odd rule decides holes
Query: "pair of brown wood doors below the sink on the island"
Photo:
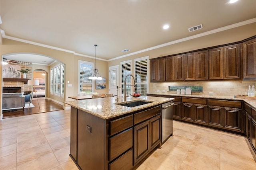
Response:
[{"label": "pair of brown wood doors below the sink on the island", "polygon": [[134,127],[134,165],[161,142],[160,114]]}]

